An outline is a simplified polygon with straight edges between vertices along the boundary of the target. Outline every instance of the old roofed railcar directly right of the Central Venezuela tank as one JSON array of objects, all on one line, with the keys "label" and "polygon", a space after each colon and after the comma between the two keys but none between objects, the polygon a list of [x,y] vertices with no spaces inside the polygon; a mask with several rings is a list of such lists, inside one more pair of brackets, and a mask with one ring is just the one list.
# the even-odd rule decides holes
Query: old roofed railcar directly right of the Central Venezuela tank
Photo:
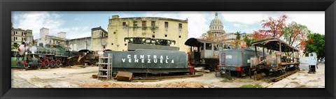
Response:
[{"label": "old roofed railcar directly right of the Central Venezuela tank", "polygon": [[189,38],[184,44],[190,47],[190,65],[203,66],[209,70],[216,70],[218,66],[218,52],[220,50],[229,50],[233,46],[198,38]]}]

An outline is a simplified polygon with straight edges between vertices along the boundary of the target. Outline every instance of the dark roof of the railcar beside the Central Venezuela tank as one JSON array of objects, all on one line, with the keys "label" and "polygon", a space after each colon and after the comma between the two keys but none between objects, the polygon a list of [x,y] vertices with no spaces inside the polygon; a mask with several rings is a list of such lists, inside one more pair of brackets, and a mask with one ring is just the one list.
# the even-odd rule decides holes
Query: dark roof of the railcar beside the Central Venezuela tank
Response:
[{"label": "dark roof of the railcar beside the Central Venezuela tank", "polygon": [[214,41],[209,41],[209,40],[202,40],[200,38],[189,38],[186,43],[184,43],[184,45],[188,45],[191,47],[200,47],[201,43],[213,43],[213,44],[221,44],[218,42],[214,42]]}]

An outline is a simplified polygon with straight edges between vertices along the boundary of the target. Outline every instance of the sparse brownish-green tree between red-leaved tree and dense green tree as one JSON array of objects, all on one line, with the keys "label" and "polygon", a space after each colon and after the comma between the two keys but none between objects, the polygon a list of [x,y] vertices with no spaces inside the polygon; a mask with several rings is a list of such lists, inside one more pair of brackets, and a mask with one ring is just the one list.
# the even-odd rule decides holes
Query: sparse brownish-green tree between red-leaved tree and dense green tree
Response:
[{"label": "sparse brownish-green tree between red-leaved tree and dense green tree", "polygon": [[311,31],[302,24],[297,24],[296,22],[292,22],[288,24],[287,27],[282,29],[283,37],[286,42],[300,50],[304,50],[304,45],[306,45],[305,41],[307,40],[307,34],[311,33]]}]

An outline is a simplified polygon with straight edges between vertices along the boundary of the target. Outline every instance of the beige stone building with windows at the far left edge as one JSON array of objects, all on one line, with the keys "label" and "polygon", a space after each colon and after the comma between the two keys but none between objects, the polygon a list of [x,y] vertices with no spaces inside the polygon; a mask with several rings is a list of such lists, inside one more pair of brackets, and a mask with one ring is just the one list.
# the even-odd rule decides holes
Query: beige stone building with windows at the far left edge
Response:
[{"label": "beige stone building with windows at the far left edge", "polygon": [[14,29],[12,24],[12,29],[10,31],[11,34],[11,47],[13,47],[14,44],[21,44],[22,42],[25,43],[31,43],[33,44],[34,36],[33,31],[30,29]]}]

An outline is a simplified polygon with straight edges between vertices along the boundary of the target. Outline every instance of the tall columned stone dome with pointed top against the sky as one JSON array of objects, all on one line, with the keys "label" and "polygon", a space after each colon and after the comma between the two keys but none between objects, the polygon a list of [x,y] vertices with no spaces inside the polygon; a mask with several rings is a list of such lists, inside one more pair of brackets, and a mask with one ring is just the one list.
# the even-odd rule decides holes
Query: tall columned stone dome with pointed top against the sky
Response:
[{"label": "tall columned stone dome with pointed top against the sky", "polygon": [[218,13],[215,14],[214,20],[211,20],[210,26],[209,26],[209,31],[208,36],[211,37],[220,37],[225,34],[225,31],[223,30],[224,26],[221,20],[218,18]]}]

